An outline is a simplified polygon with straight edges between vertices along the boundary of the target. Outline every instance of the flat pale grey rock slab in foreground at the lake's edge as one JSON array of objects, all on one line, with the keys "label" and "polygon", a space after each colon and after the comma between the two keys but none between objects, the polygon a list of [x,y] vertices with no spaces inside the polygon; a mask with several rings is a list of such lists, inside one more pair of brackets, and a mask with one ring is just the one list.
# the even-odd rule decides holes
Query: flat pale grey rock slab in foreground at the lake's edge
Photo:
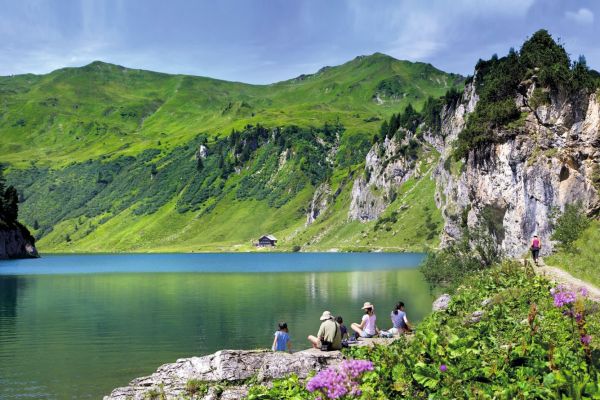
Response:
[{"label": "flat pale grey rock slab in foreground at the lake's edge", "polygon": [[[165,364],[147,377],[136,378],[117,388],[104,400],[180,399],[191,397],[188,382],[206,384],[197,399],[241,399],[250,384],[268,384],[292,373],[304,379],[311,371],[336,365],[343,357],[339,351],[305,350],[293,354],[268,350],[222,350],[204,357],[182,358]],[[163,397],[161,397],[163,396]]]}]

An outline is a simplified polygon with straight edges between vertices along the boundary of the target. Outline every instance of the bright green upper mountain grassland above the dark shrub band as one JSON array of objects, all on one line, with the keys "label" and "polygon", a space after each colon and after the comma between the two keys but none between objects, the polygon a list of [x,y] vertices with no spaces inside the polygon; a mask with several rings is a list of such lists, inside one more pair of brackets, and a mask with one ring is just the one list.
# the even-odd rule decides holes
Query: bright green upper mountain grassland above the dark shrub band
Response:
[{"label": "bright green upper mountain grassland above the dark shrub band", "polygon": [[[378,104],[373,97],[388,79],[410,83],[398,87],[401,96]],[[372,118],[409,102],[420,106],[461,84],[458,75],[383,54],[271,85],[94,62],[47,75],[0,77],[0,155],[16,166],[56,168],[157,146],[169,150],[198,133],[224,136],[247,124],[310,126],[337,119],[370,139],[379,128]]]}]

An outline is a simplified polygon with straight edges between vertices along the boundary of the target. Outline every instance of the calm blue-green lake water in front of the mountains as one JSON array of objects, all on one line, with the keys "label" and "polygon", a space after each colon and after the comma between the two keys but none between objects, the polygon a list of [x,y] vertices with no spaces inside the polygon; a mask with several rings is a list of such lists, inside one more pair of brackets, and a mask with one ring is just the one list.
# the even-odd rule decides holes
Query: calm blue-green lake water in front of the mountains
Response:
[{"label": "calm blue-green lake water in front of the mountains", "polygon": [[324,310],[431,310],[421,254],[65,255],[0,261],[0,399],[101,398],[177,358],[308,347]]}]

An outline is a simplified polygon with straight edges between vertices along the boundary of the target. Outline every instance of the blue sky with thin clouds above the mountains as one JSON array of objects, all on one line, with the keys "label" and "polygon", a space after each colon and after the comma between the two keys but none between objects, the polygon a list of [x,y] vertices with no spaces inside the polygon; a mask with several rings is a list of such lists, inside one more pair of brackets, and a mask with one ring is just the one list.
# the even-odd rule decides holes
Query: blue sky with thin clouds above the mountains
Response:
[{"label": "blue sky with thin clouds above the mountains", "polygon": [[374,52],[469,75],[540,28],[600,70],[596,0],[0,0],[0,75],[101,60],[263,84]]}]

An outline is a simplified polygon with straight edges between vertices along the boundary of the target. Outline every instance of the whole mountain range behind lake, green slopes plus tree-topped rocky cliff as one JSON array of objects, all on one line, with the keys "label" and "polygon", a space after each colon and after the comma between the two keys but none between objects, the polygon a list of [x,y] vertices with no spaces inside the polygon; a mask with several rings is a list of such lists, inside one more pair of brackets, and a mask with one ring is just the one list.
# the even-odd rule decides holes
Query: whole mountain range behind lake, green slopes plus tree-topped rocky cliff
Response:
[{"label": "whole mountain range behind lake, green slopes plus tree-topped rocky cliff", "polygon": [[552,209],[596,209],[596,75],[545,31],[464,91],[384,55],[264,87],[90,69],[0,82],[0,155],[42,250],[247,251],[270,233],[423,251],[484,224],[513,254],[534,229],[549,243]]}]

